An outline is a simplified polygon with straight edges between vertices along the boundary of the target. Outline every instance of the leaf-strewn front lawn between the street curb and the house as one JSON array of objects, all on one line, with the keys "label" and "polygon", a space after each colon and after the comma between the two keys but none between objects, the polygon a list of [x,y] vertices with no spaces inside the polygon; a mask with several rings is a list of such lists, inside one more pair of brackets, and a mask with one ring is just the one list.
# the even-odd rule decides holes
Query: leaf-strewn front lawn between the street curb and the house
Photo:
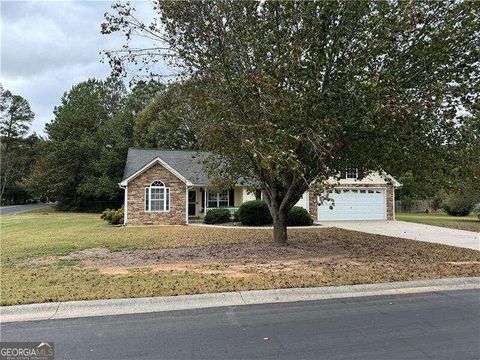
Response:
[{"label": "leaf-strewn front lawn between the street curb and the house", "polygon": [[111,227],[97,214],[5,216],[1,304],[480,276],[480,252],[314,227]]}]

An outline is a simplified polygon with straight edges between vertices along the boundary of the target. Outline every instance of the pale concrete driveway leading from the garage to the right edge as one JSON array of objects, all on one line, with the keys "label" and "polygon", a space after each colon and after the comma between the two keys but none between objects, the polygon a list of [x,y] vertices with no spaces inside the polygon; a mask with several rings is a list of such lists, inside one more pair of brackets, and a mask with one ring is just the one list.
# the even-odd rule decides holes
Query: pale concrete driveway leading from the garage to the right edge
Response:
[{"label": "pale concrete driveway leading from the garage to the right edge", "polygon": [[420,240],[467,249],[480,250],[480,233],[415,224],[405,221],[328,221],[326,227],[362,231],[370,234]]}]

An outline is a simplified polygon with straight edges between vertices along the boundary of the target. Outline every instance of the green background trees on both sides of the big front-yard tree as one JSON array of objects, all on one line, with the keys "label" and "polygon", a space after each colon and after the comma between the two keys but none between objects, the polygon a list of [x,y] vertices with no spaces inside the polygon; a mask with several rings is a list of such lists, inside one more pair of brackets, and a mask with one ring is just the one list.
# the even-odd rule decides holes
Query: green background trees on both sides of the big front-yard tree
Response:
[{"label": "green background trees on both sides of the big front-yard tree", "polygon": [[[63,210],[120,207],[129,147],[200,149],[202,116],[196,85],[89,79],[64,94],[44,137],[28,134],[34,113],[28,101],[1,88],[2,205],[32,199],[57,201]],[[478,201],[478,109],[459,119],[452,140],[431,158],[397,158],[391,173],[403,183],[398,198],[437,199],[454,194]],[[473,195],[473,196],[472,196]]]}]

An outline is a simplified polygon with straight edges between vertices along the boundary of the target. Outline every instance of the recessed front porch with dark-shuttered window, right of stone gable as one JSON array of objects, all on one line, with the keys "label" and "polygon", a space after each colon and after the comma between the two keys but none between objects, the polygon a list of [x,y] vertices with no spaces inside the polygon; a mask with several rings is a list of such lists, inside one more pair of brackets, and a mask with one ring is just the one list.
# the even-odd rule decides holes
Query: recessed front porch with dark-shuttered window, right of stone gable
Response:
[{"label": "recessed front porch with dark-shuttered window, right of stone gable", "polygon": [[246,187],[240,185],[224,191],[192,186],[188,188],[187,196],[188,220],[201,220],[210,209],[217,208],[228,209],[233,216],[242,203],[255,199],[255,194],[249,193]]}]

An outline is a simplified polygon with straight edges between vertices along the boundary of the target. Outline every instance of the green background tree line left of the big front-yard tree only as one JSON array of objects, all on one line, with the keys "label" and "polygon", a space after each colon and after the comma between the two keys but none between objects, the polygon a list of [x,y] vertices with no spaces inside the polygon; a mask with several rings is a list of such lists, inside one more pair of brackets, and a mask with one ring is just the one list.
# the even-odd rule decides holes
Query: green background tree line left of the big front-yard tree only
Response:
[{"label": "green background tree line left of the big front-yard tree only", "polygon": [[119,207],[118,183],[129,147],[195,149],[193,113],[183,84],[116,78],[73,86],[54,109],[44,137],[28,135],[27,100],[2,90],[2,204],[32,199],[62,210]]}]

